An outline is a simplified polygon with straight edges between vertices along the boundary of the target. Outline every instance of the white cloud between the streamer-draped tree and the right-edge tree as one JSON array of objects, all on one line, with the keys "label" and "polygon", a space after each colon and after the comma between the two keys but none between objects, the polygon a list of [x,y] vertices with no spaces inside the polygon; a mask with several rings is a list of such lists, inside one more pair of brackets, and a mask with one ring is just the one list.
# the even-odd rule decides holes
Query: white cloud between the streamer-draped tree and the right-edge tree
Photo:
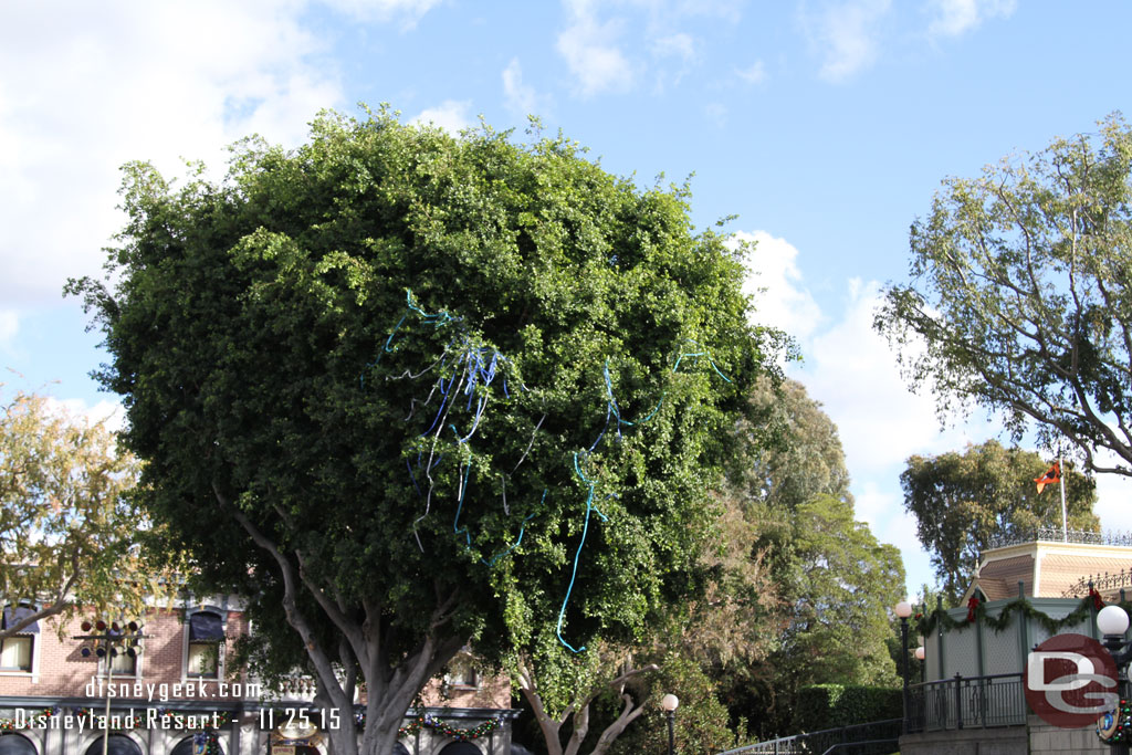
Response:
[{"label": "white cloud between the streamer-draped tree and the right-edge tree", "polygon": [[931,396],[914,395],[900,376],[887,342],[873,331],[880,303],[876,282],[847,282],[840,311],[823,311],[798,267],[800,252],[764,231],[738,234],[758,242],[744,290],[757,288],[756,321],[775,325],[797,338],[805,358],[788,371],[823,404],[838,427],[852,475],[857,517],[882,542],[897,543],[908,582],[934,577],[928,555],[916,538],[916,523],[903,509],[900,472],[912,454],[937,454],[983,441],[995,428],[974,421],[944,432]]}]

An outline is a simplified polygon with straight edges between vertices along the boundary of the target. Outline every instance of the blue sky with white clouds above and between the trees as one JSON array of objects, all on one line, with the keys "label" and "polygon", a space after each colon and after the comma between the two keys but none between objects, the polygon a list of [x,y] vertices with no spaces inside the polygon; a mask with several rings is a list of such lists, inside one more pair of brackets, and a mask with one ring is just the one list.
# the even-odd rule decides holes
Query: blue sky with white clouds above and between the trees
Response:
[{"label": "blue sky with white clouds above and between the trees", "polygon": [[[911,454],[941,432],[869,329],[907,271],[908,226],[946,175],[1095,130],[1127,109],[1132,5],[1019,0],[284,0],[0,5],[0,364],[14,387],[103,415],[104,354],[60,290],[96,274],[122,218],[118,166],[221,168],[256,131],[295,145],[323,108],[388,102],[449,129],[538,113],[602,165],[693,179],[698,225],[758,241],[760,318],[846,446],[858,517],[931,581],[903,513]],[[1132,529],[1129,487],[1097,512]]]}]

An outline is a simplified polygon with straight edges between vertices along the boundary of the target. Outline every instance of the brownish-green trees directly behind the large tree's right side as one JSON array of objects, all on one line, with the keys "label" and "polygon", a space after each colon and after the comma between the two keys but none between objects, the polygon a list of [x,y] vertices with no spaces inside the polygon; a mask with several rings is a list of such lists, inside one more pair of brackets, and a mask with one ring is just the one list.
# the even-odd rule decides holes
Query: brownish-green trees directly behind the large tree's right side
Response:
[{"label": "brownish-green trees directly behind the large tree's right side", "polygon": [[746,530],[732,531],[747,561],[729,573],[746,578],[722,583],[747,609],[737,624],[751,634],[745,655],[723,662],[719,653],[705,668],[731,724],[747,722],[739,736],[766,738],[791,729],[805,685],[897,681],[887,609],[903,597],[904,575],[899,551],[856,521],[837,426],[821,404],[794,380],[764,380],[751,402],[760,422],[744,428],[749,445],[727,487],[741,501]]}]

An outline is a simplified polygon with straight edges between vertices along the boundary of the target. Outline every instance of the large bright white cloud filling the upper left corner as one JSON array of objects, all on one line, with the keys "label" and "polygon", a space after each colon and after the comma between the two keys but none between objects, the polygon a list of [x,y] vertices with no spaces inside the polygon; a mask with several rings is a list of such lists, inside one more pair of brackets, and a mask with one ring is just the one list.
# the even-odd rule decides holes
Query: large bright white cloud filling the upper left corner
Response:
[{"label": "large bright white cloud filling the upper left corner", "polygon": [[59,298],[97,275],[122,225],[119,166],[180,157],[222,169],[251,130],[297,144],[317,110],[342,105],[303,3],[3,3],[0,6],[0,300]]}]

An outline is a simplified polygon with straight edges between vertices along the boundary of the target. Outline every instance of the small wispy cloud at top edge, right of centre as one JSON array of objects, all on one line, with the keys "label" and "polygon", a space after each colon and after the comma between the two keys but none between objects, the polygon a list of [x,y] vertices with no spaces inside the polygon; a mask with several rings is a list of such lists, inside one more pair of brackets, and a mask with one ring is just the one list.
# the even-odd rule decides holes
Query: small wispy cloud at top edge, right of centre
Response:
[{"label": "small wispy cloud at top edge, right of centre", "polygon": [[851,0],[826,6],[803,23],[824,54],[818,76],[827,81],[843,81],[875,62],[878,54],[881,22],[891,0]]}]

